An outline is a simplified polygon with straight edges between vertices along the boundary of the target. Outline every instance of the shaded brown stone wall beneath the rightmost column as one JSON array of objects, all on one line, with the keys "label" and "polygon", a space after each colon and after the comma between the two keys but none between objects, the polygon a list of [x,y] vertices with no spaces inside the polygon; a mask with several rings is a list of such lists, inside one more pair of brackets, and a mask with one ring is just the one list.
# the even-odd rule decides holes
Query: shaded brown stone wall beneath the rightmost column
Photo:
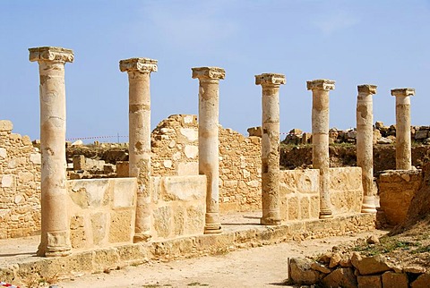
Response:
[{"label": "shaded brown stone wall beneath the rightmost column", "polygon": [[387,224],[403,222],[422,180],[421,170],[388,170],[379,175],[380,206]]}]

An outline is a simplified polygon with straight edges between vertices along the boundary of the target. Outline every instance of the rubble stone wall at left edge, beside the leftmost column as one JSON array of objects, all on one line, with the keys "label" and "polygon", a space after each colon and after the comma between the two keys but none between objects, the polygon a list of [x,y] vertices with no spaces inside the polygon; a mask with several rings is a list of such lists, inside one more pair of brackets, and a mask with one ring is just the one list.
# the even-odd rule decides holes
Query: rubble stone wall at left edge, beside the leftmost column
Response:
[{"label": "rubble stone wall at left edge, beside the leftmost column", "polygon": [[40,153],[0,121],[0,239],[40,231]]}]

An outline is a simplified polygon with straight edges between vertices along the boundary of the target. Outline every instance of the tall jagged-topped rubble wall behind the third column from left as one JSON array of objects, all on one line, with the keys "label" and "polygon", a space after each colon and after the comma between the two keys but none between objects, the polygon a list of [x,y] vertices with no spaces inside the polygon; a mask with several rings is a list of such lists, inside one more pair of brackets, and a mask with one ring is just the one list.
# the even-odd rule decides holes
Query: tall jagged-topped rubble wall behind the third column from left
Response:
[{"label": "tall jagged-topped rubble wall behind the third column from left", "polygon": [[[152,175],[199,174],[196,115],[171,115],[151,134]],[[219,210],[261,209],[261,139],[219,126]]]}]

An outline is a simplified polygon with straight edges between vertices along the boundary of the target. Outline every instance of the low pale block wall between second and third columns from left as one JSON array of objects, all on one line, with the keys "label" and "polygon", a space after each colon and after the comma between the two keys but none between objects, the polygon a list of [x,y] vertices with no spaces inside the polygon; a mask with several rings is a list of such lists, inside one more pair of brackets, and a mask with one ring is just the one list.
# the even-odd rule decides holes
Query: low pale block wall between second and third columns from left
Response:
[{"label": "low pale block wall between second and third columns from left", "polygon": [[202,234],[206,176],[163,176],[152,180],[152,239]]}]

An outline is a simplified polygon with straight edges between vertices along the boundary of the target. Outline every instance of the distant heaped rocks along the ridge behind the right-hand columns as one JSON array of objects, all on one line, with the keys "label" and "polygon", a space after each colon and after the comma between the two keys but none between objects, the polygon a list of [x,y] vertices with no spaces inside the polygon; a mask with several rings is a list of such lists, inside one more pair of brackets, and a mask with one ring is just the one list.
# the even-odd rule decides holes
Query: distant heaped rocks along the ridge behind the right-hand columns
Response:
[{"label": "distant heaped rocks along the ridge behind the right-hand columns", "polygon": [[[254,128],[255,130],[255,128]],[[251,131],[248,130],[251,135]],[[411,126],[410,137],[418,143],[430,144],[430,126]],[[357,131],[355,128],[346,131],[331,128],[329,131],[330,143],[356,143]],[[374,144],[393,144],[396,141],[396,126],[385,126],[382,122],[374,123]],[[288,132],[284,144],[300,145],[312,143],[312,133],[292,129]]]}]

